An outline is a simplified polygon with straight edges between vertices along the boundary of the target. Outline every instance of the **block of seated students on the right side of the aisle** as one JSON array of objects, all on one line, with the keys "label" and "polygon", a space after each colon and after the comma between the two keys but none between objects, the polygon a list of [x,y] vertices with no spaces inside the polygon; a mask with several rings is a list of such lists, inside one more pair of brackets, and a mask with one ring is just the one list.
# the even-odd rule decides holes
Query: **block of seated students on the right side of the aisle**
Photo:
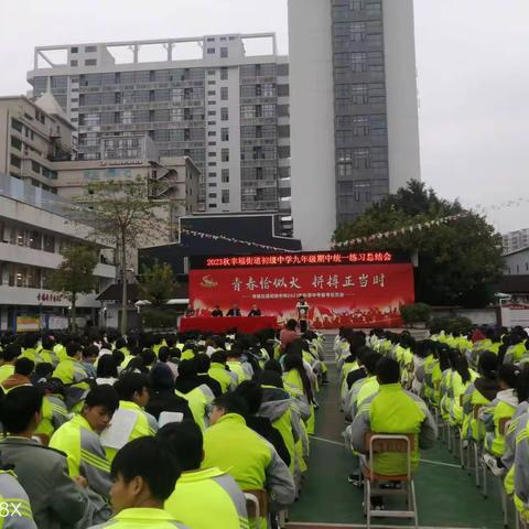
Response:
[{"label": "block of seated students on the right side of the aisle", "polygon": [[[419,450],[431,446],[438,425],[446,424],[462,452],[477,451],[478,465],[501,477],[521,522],[529,521],[527,330],[431,328],[428,339],[415,341],[407,331],[375,328],[366,335],[341,328],[334,349],[345,436],[356,462],[352,483],[361,483],[369,464],[363,455],[366,432],[415,435],[417,468]],[[384,475],[403,474],[395,454],[379,454],[373,464]],[[382,498],[376,504],[384,508]]]}]

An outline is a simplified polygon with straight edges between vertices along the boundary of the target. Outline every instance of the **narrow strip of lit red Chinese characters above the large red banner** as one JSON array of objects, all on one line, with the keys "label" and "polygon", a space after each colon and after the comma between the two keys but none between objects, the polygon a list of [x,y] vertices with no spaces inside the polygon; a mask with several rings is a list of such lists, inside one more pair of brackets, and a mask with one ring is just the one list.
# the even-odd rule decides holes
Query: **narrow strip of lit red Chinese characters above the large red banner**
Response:
[{"label": "narrow strip of lit red Chinese characters above the large red banner", "polygon": [[360,251],[348,253],[325,251],[317,253],[287,253],[277,256],[210,257],[206,259],[206,267],[282,267],[291,264],[357,264],[370,262],[393,262],[393,255],[389,251]]}]

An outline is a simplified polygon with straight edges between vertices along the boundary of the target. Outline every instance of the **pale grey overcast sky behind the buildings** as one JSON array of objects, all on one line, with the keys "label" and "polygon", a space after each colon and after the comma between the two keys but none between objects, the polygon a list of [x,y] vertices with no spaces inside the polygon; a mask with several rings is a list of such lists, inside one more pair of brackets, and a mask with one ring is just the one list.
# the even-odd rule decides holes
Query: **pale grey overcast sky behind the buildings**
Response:
[{"label": "pale grey overcast sky behind the buildings", "polygon": [[[313,0],[306,0],[313,1]],[[400,0],[389,0],[400,1]],[[287,0],[0,0],[0,95],[23,94],[36,45],[276,32]],[[529,0],[415,0],[422,179],[529,227]]]}]

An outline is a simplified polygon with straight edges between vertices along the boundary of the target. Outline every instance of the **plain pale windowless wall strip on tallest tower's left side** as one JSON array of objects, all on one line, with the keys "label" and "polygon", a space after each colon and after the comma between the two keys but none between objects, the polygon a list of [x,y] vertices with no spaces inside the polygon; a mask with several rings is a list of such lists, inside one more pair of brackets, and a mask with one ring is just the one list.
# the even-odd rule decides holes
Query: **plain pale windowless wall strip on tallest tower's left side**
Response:
[{"label": "plain pale windowless wall strip on tallest tower's left side", "polygon": [[289,0],[294,237],[328,249],[336,227],[332,21],[328,0]]}]

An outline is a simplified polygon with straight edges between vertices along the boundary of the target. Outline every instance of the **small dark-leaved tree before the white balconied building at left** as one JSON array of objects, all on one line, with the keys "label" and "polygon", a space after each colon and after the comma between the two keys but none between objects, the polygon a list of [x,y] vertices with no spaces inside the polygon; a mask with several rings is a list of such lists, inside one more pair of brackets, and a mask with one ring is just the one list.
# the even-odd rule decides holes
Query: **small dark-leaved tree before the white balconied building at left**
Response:
[{"label": "small dark-leaved tree before the white balconied building at left", "polygon": [[77,295],[88,294],[94,291],[98,252],[93,246],[72,246],[64,250],[64,260],[50,276],[51,289],[55,292],[66,293],[72,303],[72,330],[77,326]]}]

